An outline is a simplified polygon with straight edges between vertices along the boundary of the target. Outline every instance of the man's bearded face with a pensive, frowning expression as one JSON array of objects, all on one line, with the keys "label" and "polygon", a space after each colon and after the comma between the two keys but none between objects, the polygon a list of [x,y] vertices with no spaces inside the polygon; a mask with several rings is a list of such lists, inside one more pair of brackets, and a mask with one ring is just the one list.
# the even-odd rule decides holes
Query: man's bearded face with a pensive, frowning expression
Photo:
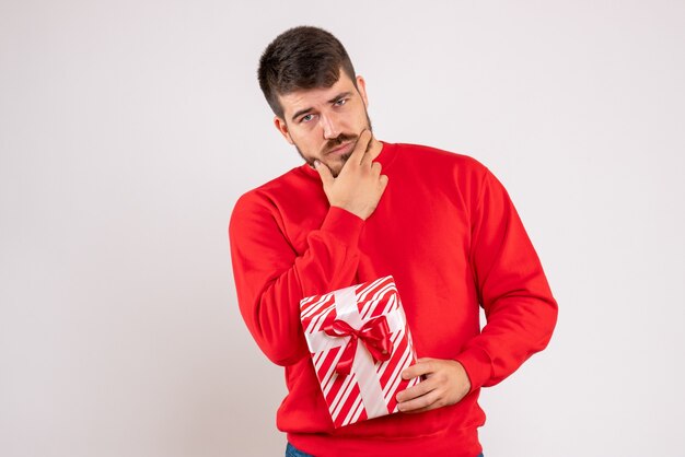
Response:
[{"label": "man's bearded face with a pensive, frowning expression", "polygon": [[283,118],[274,119],[278,130],[302,159],[310,164],[321,161],[334,176],[349,159],[359,134],[371,130],[364,80],[357,77],[355,87],[342,70],[330,87],[295,91],[279,99]]}]

